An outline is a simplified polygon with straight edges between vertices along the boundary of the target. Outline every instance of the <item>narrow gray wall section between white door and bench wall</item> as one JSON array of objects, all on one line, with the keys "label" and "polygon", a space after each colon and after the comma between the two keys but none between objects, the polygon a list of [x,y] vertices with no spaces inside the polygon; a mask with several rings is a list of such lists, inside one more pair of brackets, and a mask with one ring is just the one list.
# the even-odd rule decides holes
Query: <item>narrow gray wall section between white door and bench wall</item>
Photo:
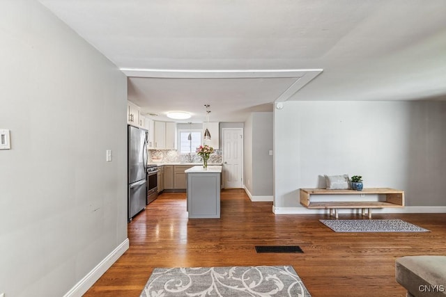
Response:
[{"label": "narrow gray wall section between white door and bench wall", "polygon": [[245,122],[245,186],[253,196],[272,196],[272,113],[252,113]]}]

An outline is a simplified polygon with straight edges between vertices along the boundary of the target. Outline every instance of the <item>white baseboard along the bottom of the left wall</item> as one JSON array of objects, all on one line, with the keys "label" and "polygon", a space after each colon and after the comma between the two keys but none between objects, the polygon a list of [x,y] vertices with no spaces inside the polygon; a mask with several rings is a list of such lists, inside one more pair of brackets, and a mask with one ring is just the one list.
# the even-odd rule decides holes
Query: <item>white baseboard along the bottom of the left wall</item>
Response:
[{"label": "white baseboard along the bottom of the left wall", "polygon": [[129,247],[129,240],[125,239],[125,241],[110,252],[105,259],[96,265],[95,268],[87,273],[82,280],[79,280],[79,282],[75,284],[75,287],[72,287],[63,297],[81,297],[83,294],[85,294],[85,292],[88,291],[97,280],[99,280],[101,275],[104,274],[105,271],[107,271],[107,269],[110,268],[110,266],[112,266],[112,264],[114,264],[114,262],[116,262],[116,260],[119,259],[119,257],[121,257]]}]

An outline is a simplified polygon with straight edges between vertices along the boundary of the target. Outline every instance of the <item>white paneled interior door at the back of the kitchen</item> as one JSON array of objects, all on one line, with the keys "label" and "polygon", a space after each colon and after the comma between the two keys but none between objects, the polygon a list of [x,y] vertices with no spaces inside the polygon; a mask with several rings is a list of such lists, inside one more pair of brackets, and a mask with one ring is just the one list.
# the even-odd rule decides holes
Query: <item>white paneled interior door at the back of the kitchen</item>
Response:
[{"label": "white paneled interior door at the back of the kitchen", "polygon": [[243,129],[222,129],[223,187],[242,188]]}]

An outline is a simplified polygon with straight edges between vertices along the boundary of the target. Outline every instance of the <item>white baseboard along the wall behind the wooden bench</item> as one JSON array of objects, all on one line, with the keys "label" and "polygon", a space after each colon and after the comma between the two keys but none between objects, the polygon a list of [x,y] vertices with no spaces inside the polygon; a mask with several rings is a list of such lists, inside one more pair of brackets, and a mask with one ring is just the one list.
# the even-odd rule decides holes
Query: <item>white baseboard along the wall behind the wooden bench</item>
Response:
[{"label": "white baseboard along the wall behind the wooden bench", "polygon": [[[274,207],[274,214],[329,214],[328,209],[307,209],[306,207]],[[338,214],[360,214],[358,209],[338,209]],[[446,206],[414,206],[401,208],[373,209],[372,214],[443,214],[446,213]]]}]

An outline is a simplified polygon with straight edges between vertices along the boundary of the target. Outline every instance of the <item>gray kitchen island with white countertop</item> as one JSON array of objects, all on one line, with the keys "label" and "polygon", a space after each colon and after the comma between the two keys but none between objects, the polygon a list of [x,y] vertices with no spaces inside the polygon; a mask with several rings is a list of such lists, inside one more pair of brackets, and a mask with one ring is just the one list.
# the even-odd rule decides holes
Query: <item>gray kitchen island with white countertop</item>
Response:
[{"label": "gray kitchen island with white countertop", "polygon": [[194,166],[185,173],[189,218],[220,218],[222,166]]}]

